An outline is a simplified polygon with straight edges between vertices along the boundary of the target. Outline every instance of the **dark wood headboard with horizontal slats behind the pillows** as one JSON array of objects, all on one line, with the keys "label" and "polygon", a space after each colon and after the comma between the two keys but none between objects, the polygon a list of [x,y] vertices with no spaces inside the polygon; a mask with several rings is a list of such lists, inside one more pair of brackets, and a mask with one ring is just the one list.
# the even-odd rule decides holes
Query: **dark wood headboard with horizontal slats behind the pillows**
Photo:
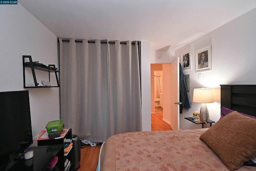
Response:
[{"label": "dark wood headboard with horizontal slats behind the pillows", "polygon": [[220,85],[220,106],[256,116],[256,85]]}]

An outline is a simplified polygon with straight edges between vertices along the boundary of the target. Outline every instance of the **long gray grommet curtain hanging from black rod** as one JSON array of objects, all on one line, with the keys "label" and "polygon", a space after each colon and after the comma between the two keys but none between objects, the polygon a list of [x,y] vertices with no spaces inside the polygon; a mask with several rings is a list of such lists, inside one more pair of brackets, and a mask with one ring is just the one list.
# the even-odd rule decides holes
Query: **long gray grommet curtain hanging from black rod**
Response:
[{"label": "long gray grommet curtain hanging from black rod", "polygon": [[59,38],[65,127],[93,142],[142,131],[139,42],[94,41]]}]

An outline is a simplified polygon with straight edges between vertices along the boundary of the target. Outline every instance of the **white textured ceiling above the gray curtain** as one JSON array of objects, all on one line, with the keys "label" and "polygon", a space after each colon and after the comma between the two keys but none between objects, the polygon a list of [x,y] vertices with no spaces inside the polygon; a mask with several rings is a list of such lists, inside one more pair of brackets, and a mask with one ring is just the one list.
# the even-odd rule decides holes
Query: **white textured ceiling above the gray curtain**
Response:
[{"label": "white textured ceiling above the gray curtain", "polygon": [[174,50],[256,8],[256,0],[18,0],[61,38],[150,41]]}]

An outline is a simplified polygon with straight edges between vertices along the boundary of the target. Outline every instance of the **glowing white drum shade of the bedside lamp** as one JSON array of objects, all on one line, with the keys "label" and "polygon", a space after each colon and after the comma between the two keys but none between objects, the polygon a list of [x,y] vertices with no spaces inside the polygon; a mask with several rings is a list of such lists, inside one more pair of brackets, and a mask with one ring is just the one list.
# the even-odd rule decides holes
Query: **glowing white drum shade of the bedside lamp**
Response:
[{"label": "glowing white drum shade of the bedside lamp", "polygon": [[193,93],[193,102],[213,103],[214,97],[211,88],[195,88]]}]

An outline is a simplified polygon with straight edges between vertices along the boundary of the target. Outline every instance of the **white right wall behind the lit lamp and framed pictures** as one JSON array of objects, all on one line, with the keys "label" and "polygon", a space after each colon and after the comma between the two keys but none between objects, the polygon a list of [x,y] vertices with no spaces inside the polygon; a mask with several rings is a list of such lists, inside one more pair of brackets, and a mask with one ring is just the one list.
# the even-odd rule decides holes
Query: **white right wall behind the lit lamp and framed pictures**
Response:
[{"label": "white right wall behind the lit lamp and framed pictures", "polygon": [[[207,104],[211,120],[218,121],[220,118],[221,84],[256,84],[255,16],[256,9],[251,10],[175,51],[175,56],[178,57],[186,50],[192,49],[192,69],[184,71],[184,74],[190,75],[190,101],[194,88],[214,88],[215,102]],[[199,73],[195,72],[195,52],[208,45],[212,45],[212,70],[200,72],[202,79],[199,80]],[[193,103],[190,109],[183,110],[183,114],[180,114],[180,129],[201,128],[201,125],[184,119],[191,117],[193,111],[199,111],[200,106],[201,103]]]}]

